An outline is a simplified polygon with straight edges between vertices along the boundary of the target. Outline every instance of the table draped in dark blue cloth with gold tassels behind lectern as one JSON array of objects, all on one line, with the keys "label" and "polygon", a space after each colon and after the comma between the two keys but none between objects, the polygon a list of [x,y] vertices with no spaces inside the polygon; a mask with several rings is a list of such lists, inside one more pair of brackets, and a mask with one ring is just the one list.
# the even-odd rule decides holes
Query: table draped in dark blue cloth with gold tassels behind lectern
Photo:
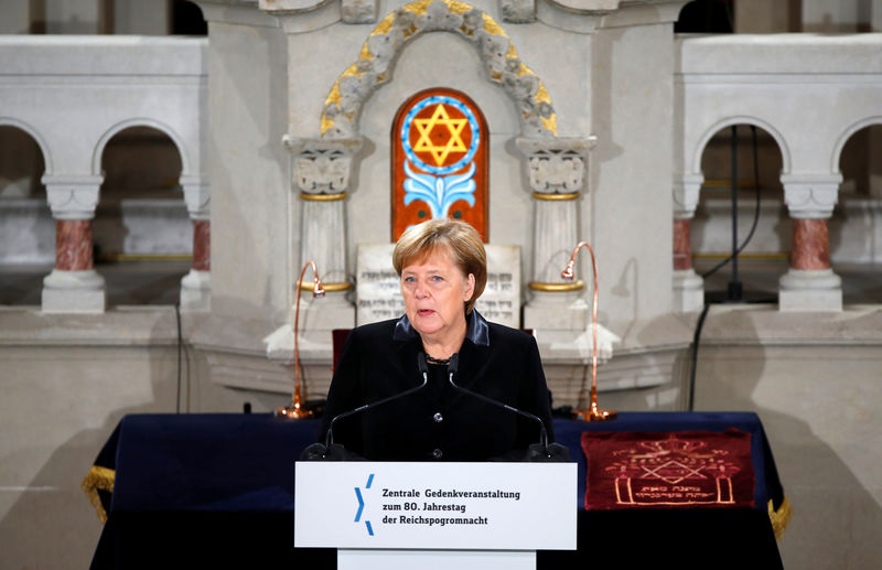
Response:
[{"label": "table draped in dark blue cloth with gold tassels behind lectern", "polygon": [[[587,510],[587,431],[750,434],[752,508]],[[319,422],[269,415],[132,415],[84,481],[106,518],[92,568],[335,568],[331,549],[293,548],[294,461]],[[579,464],[578,549],[541,551],[539,568],[782,568],[788,508],[762,423],[750,412],[622,412],[555,420]]]}]

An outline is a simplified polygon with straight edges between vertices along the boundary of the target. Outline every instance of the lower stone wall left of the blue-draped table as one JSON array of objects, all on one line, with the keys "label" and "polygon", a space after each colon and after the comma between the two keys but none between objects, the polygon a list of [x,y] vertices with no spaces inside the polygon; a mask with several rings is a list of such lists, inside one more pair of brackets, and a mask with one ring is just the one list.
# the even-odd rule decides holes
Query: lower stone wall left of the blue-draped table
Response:
[{"label": "lower stone wall left of the blue-draped table", "polygon": [[0,309],[0,567],[88,567],[101,525],[79,484],[125,413],[175,410],[176,362],[172,308]]}]

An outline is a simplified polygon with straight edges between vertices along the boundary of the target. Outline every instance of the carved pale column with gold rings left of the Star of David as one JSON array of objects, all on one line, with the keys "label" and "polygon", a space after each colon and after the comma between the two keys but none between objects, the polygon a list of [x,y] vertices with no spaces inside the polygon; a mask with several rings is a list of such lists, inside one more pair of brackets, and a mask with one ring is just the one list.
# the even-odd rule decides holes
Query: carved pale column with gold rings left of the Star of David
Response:
[{"label": "carved pale column with gold rings left of the Star of David", "polygon": [[[300,260],[292,276],[297,280],[303,264],[312,259],[319,269],[325,298],[321,316],[304,313],[314,302],[301,294],[303,334],[355,325],[355,306],[346,299],[352,282],[346,271],[345,205],[353,157],[362,147],[362,138],[286,139],[292,153],[293,189],[300,201]],[[295,283],[294,283],[295,284]],[[305,276],[304,291],[312,290],[311,276]],[[305,314],[305,320],[304,320]]]}]

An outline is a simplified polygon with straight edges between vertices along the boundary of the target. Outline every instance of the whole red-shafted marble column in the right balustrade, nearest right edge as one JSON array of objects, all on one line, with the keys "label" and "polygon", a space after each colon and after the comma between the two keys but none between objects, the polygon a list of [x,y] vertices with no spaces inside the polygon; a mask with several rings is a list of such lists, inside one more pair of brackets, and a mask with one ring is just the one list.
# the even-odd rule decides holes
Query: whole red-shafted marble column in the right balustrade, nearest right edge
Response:
[{"label": "whole red-shafted marble column in the right balustrade, nearest right edge", "polygon": [[842,175],[786,175],[784,201],[793,219],[790,267],[778,290],[781,311],[841,311],[842,280],[830,268],[827,222]]}]

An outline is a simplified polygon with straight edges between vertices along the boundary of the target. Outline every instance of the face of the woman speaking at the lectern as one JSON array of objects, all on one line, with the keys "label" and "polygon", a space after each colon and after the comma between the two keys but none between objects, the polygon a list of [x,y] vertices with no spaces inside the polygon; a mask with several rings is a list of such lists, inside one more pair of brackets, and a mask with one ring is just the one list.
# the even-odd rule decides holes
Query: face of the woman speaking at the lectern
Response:
[{"label": "face of the woman speaking at the lectern", "polygon": [[465,302],[472,298],[475,276],[464,276],[440,248],[401,268],[405,312],[420,336],[443,341],[465,322]]}]

